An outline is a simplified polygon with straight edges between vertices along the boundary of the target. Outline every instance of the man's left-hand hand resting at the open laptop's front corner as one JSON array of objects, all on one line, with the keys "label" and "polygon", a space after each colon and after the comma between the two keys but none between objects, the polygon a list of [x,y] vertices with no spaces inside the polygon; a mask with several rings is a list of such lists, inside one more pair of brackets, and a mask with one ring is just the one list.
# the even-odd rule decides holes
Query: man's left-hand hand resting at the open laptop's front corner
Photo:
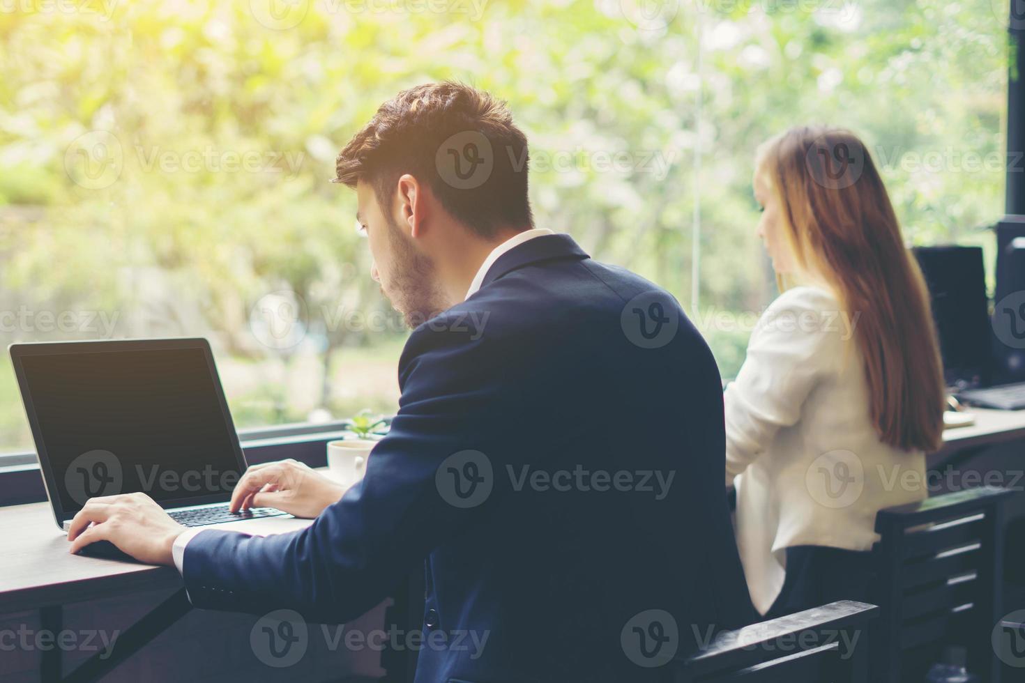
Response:
[{"label": "man's left-hand hand resting at the open laptop's front corner", "polygon": [[71,522],[68,540],[72,553],[110,541],[140,562],[172,565],[171,547],[183,530],[146,494],[121,494],[86,501]]}]

